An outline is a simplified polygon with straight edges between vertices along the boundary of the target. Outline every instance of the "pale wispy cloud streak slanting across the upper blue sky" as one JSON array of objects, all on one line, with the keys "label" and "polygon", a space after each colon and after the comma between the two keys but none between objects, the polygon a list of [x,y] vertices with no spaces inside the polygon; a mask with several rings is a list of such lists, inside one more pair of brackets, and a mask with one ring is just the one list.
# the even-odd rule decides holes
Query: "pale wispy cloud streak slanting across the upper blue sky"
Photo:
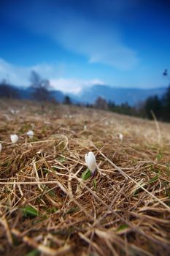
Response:
[{"label": "pale wispy cloud streak slanting across the upper blue sky", "polygon": [[82,17],[60,22],[53,37],[65,48],[86,56],[90,63],[107,64],[117,69],[132,69],[139,63],[136,52],[123,44],[117,29],[109,29]]}]

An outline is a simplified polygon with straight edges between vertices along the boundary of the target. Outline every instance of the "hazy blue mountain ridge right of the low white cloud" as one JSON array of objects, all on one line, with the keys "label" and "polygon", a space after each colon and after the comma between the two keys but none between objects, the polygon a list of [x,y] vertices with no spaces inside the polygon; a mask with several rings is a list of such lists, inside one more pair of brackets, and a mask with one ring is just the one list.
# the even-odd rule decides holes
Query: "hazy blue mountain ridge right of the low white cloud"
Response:
[{"label": "hazy blue mountain ridge right of the low white cloud", "polygon": [[103,97],[107,101],[111,100],[112,102],[115,102],[117,105],[124,102],[128,102],[129,105],[136,105],[139,102],[143,102],[147,97],[153,95],[161,97],[165,91],[166,88],[129,89],[95,85],[88,89],[83,89],[77,96],[77,100],[85,103],[93,103],[97,97]]}]

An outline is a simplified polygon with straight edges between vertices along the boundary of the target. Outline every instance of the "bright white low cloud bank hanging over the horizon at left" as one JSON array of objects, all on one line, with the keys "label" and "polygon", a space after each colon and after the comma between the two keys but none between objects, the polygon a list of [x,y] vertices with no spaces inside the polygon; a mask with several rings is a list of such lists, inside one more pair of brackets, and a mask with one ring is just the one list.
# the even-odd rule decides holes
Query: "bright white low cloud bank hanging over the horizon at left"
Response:
[{"label": "bright white low cloud bank hanging over the horizon at left", "polygon": [[0,59],[0,80],[7,79],[10,83],[16,86],[29,86],[29,76],[32,70],[35,70],[42,75],[42,78],[48,78],[53,89],[58,89],[63,92],[77,94],[82,88],[93,86],[94,84],[104,84],[99,79],[81,80],[77,78],[61,78],[63,64],[56,66],[50,64],[37,64],[31,67],[20,67],[10,64],[3,59]]}]

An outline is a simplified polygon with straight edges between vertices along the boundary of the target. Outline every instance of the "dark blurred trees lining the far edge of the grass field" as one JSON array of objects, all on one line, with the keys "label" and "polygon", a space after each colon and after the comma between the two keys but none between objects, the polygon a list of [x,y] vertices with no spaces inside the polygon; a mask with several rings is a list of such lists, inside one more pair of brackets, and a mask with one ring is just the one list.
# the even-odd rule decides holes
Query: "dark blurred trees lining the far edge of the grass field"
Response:
[{"label": "dark blurred trees lining the far edge of the grass field", "polygon": [[[163,97],[158,97],[158,95],[148,97],[144,102],[140,102],[138,106],[131,107],[127,102],[116,105],[113,101],[107,102],[106,99],[98,97],[96,101],[92,104],[83,105],[82,103],[77,103],[76,105],[85,106],[87,108],[97,108],[101,110],[109,110],[115,113],[125,114],[128,116],[139,116],[142,118],[157,118],[160,121],[170,121],[170,78],[168,70],[165,69],[163,76],[169,79],[169,87]],[[32,71],[30,78],[30,99],[41,102],[42,108],[45,108],[45,103],[50,102],[51,104],[58,104],[53,94],[50,93],[50,81],[48,79],[43,79],[41,76]],[[22,99],[18,92],[18,88],[12,86],[7,80],[1,80],[0,82],[0,98],[4,99]],[[63,104],[72,105],[72,99],[69,96],[63,97],[60,100]]]}]

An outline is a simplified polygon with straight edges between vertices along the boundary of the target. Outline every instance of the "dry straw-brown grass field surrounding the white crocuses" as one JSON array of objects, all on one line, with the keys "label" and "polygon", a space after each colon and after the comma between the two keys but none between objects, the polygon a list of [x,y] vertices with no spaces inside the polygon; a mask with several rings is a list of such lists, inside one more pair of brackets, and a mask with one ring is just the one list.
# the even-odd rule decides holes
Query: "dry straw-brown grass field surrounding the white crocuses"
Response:
[{"label": "dry straw-brown grass field surrounding the white crocuses", "polygon": [[[169,130],[88,108],[1,101],[0,255],[170,255]],[[86,179],[89,151],[97,170]]]}]

